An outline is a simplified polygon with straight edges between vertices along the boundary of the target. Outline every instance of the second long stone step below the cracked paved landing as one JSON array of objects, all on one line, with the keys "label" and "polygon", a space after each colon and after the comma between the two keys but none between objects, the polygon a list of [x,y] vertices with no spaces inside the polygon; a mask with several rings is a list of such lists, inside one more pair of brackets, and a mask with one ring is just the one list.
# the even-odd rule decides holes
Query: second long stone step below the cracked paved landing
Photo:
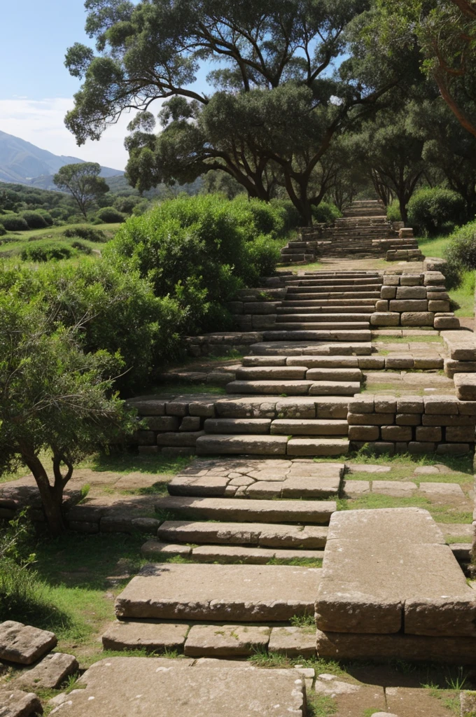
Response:
[{"label": "second long stone step below the cracked paved landing", "polygon": [[[214,543],[267,549],[292,549],[302,557],[303,554],[299,552],[300,550],[322,550],[325,547],[327,533],[326,526],[165,521],[158,528],[157,536],[160,541],[167,543],[191,543],[192,545]],[[153,541],[148,542],[152,543]],[[152,546],[150,549],[152,550]],[[148,551],[147,555],[151,556],[152,553]]]}]

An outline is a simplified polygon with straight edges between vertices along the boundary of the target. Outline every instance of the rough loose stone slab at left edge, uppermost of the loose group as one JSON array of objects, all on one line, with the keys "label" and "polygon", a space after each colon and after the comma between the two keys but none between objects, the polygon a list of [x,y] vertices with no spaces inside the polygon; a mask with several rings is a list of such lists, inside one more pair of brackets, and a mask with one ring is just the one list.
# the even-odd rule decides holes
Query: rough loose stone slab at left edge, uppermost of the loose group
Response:
[{"label": "rough loose stone slab at left edge, uppermost of the loose group", "polygon": [[0,623],[0,660],[32,665],[56,645],[56,635],[48,630],[14,620]]}]

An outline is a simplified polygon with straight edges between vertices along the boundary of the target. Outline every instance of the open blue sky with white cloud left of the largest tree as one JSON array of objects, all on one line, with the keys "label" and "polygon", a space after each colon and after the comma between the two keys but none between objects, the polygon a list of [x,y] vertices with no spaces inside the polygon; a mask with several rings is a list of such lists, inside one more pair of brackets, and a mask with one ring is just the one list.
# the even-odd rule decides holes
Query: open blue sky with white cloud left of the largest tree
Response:
[{"label": "open blue sky with white cloud left of the largest tree", "polygon": [[82,147],[63,123],[80,87],[64,65],[65,52],[74,42],[91,42],[84,32],[85,17],[83,0],[1,3],[0,130],[55,154],[123,169],[130,115],[108,128],[99,142]]}]

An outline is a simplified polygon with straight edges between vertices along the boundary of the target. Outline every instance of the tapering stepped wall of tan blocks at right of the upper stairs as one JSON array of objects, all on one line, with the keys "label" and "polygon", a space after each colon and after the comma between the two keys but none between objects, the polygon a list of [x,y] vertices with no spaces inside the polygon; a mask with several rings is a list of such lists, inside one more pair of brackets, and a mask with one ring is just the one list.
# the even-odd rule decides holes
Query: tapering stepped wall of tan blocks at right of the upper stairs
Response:
[{"label": "tapering stepped wall of tan blocks at right of the upper stairs", "polygon": [[441,272],[386,274],[372,326],[432,326],[458,328],[459,320],[449,310],[449,295]]}]

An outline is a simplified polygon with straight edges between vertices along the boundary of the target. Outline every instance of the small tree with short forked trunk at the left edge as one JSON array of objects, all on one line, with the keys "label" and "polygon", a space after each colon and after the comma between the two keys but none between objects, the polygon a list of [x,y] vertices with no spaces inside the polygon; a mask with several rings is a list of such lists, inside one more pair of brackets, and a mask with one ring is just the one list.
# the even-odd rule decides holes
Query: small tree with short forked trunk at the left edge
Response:
[{"label": "small tree with short forked trunk at the left edge", "polygon": [[104,378],[122,361],[107,351],[84,353],[78,326],[58,328],[35,303],[12,295],[0,298],[0,325],[0,473],[29,467],[49,530],[58,535],[75,463],[133,430],[133,414]]}]

